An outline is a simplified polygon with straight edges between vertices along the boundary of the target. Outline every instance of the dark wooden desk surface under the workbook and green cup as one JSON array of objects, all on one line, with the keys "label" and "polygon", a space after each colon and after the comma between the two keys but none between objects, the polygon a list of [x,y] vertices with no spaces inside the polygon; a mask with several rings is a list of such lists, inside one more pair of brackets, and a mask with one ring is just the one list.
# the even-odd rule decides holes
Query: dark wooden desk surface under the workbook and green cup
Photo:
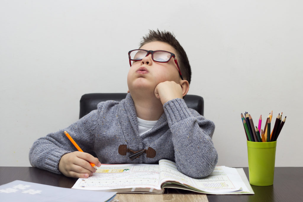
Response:
[{"label": "dark wooden desk surface under the workbook and green cup", "polygon": [[[244,168],[248,176],[248,168]],[[254,195],[210,195],[168,189],[165,194],[117,194],[119,201],[303,201],[303,167],[276,167],[274,185],[251,186]],[[0,167],[0,185],[23,180],[71,188],[76,178],[50,173],[35,167]],[[207,198],[206,198],[207,197]]]}]

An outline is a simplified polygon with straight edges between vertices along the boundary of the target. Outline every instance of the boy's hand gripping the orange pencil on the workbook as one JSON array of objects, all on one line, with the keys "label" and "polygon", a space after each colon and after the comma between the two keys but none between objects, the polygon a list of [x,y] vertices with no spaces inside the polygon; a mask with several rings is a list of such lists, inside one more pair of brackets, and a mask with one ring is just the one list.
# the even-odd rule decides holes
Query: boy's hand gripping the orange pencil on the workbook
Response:
[{"label": "boy's hand gripping the orange pencil on the workbook", "polygon": [[59,171],[67,177],[88,178],[96,169],[89,163],[101,166],[98,158],[89,153],[75,151],[64,154],[59,161]]}]

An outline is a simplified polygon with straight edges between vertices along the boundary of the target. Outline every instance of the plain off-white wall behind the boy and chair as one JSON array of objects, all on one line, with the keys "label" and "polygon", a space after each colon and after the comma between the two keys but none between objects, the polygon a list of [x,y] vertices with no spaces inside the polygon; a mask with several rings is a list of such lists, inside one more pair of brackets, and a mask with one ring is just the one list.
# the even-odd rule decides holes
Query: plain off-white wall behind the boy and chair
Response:
[{"label": "plain off-white wall behind the boy and chair", "polygon": [[[148,29],[175,33],[189,94],[216,124],[218,165],[246,167],[240,114],[287,116],[276,166],[303,166],[302,1],[1,1],[0,166],[30,166],[41,136],[78,119],[82,94],[126,92],[127,52]],[[264,122],[263,122],[264,123]],[[263,126],[262,126],[263,127]]]}]

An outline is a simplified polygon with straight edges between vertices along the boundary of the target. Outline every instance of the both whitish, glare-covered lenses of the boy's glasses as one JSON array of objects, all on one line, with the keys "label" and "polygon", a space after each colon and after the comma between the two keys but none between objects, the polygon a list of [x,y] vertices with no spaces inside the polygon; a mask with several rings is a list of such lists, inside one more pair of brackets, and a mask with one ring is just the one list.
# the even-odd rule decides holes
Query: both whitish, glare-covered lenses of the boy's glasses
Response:
[{"label": "both whitish, glare-covered lenses of the boy's glasses", "polygon": [[[146,55],[147,51],[145,50],[134,50],[130,53],[131,60],[142,60]],[[156,62],[168,62],[171,54],[165,51],[155,51],[153,52],[153,60]]]}]

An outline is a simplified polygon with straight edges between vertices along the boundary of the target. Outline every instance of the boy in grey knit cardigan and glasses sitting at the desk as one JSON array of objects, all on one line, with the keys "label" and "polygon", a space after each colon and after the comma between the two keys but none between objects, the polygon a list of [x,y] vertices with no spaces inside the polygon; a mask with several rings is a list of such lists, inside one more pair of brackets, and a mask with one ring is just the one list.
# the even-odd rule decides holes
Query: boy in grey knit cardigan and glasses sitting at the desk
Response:
[{"label": "boy in grey knit cardigan and glasses sitting at the desk", "polygon": [[[128,54],[126,98],[101,102],[66,129],[36,140],[29,153],[32,166],[86,178],[96,171],[89,162],[100,166],[169,159],[190,177],[206,177],[213,171],[218,161],[211,141],[215,125],[188,109],[182,99],[191,70],[174,35],[150,31],[140,48]],[[65,130],[83,151],[94,151],[98,158],[76,151]],[[131,154],[135,154],[133,160],[128,157]]]}]

